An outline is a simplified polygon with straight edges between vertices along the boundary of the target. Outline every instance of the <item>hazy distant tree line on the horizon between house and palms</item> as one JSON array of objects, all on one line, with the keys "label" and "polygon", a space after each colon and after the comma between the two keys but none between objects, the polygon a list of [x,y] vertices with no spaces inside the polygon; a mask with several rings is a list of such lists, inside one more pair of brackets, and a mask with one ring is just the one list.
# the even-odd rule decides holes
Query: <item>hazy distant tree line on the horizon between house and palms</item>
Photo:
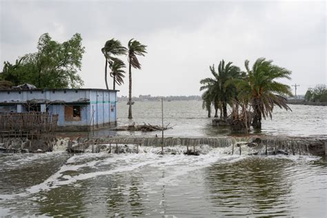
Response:
[{"label": "hazy distant tree line on the horizon between house and palms", "polygon": [[[139,97],[132,97],[132,101],[159,101],[164,99],[164,101],[201,101],[201,96],[199,95],[177,95],[177,96],[151,96],[151,95],[139,95]],[[128,101],[127,96],[118,97],[118,101]]]}]

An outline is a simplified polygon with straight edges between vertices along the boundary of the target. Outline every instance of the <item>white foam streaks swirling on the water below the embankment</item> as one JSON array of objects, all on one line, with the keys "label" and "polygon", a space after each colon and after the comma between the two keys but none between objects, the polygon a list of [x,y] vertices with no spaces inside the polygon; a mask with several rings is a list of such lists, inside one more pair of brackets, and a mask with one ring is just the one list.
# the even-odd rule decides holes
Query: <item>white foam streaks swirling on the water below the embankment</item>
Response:
[{"label": "white foam streaks swirling on the water below the embankment", "polygon": [[[121,154],[121,155],[108,155],[107,153],[84,153],[80,155],[73,155],[70,157],[66,164],[54,172],[53,175],[48,177],[41,184],[31,186],[26,189],[26,192],[15,195],[0,195],[0,199],[14,199],[15,197],[24,197],[26,195],[34,194],[41,191],[47,191],[52,188],[58,188],[59,186],[74,184],[77,181],[92,179],[99,176],[113,175],[121,172],[137,172],[143,167],[151,167],[157,170],[165,170],[166,175],[163,178],[159,178],[155,181],[156,185],[170,185],[178,186],[179,177],[187,175],[190,172],[195,172],[201,168],[206,168],[217,162],[222,163],[235,163],[242,161],[246,158],[269,158],[269,159],[290,159],[291,161],[314,161],[319,157],[313,156],[299,156],[299,155],[274,155],[274,156],[248,156],[251,149],[242,150],[242,155],[229,155],[232,150],[232,146],[226,148],[210,148],[208,146],[198,146],[197,149],[203,148],[201,152],[206,152],[205,155],[188,156],[183,155],[186,152],[186,147],[175,146],[170,147],[171,150],[177,150],[177,155],[157,155],[161,151],[158,147],[139,147],[139,154]],[[237,148],[237,147],[236,147]],[[167,149],[167,148],[166,148]],[[235,148],[234,148],[235,149]],[[237,150],[237,149],[236,149]],[[39,156],[37,158],[42,157]],[[35,157],[30,157],[34,159]],[[98,170],[100,166],[106,166],[108,164],[115,163],[117,165],[110,165],[110,170]],[[83,171],[82,168],[95,168],[95,172],[80,173],[79,175],[65,175],[68,171]],[[144,188],[148,187],[149,190],[151,184],[149,182],[144,183]]]}]

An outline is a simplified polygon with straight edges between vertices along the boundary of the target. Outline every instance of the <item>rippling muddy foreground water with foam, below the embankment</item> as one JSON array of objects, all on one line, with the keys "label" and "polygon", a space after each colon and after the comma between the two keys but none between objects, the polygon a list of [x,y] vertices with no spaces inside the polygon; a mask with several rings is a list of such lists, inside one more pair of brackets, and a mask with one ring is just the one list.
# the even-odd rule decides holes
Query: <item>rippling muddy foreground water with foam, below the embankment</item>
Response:
[{"label": "rippling muddy foreground water with foam, below the embankment", "polygon": [[326,217],[327,160],[105,152],[0,155],[0,215],[81,217]]}]

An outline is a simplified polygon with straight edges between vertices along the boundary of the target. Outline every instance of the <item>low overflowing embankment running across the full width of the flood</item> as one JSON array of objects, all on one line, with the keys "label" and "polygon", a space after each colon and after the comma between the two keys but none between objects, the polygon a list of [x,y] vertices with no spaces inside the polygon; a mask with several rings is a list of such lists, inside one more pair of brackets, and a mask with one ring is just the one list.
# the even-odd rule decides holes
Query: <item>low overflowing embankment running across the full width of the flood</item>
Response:
[{"label": "low overflowing embankment running across the full width of the flood", "polygon": [[[137,153],[141,148],[160,148],[160,152],[200,155],[202,148],[232,148],[232,153],[250,149],[248,155],[325,155],[327,139],[324,137],[99,137],[87,139],[79,137],[41,139],[11,139],[0,141],[0,152],[108,152]],[[172,149],[174,148],[174,149]],[[162,150],[163,149],[163,150]],[[171,150],[172,149],[172,150]]]}]

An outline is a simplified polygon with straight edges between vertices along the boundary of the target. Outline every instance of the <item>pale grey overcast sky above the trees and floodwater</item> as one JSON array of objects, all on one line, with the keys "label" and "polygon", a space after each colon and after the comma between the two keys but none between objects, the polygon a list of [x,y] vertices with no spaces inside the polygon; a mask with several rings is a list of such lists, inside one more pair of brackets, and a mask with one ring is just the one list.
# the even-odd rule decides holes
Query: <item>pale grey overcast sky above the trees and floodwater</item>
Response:
[{"label": "pale grey overcast sky above the trees and floodwater", "polygon": [[[0,0],[0,8],[1,69],[3,61],[36,52],[45,32],[59,42],[79,32],[84,88],[106,87],[101,48],[114,37],[148,46],[142,69],[132,70],[133,96],[200,95],[199,80],[221,59],[241,69],[245,59],[273,59],[292,70],[285,82],[299,84],[298,94],[326,83],[325,1]],[[128,95],[128,79],[118,89]]]}]

